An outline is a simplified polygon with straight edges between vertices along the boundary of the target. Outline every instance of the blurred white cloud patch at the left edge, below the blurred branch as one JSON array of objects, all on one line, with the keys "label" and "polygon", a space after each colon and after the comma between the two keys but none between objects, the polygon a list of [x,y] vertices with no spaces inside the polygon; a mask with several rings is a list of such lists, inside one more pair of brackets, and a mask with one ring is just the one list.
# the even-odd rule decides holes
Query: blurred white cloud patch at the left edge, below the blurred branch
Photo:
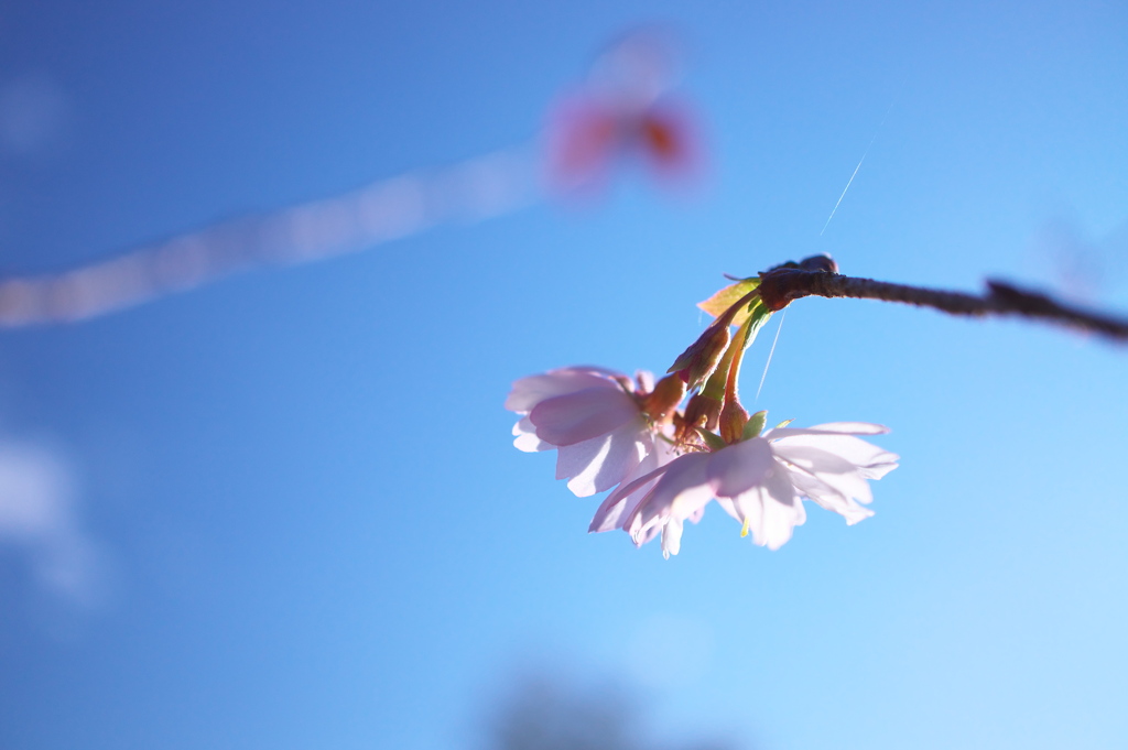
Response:
[{"label": "blurred white cloud patch at the left edge, below the blurred branch", "polygon": [[26,554],[49,592],[82,607],[99,601],[97,546],[76,513],[72,473],[54,451],[0,441],[0,546]]}]

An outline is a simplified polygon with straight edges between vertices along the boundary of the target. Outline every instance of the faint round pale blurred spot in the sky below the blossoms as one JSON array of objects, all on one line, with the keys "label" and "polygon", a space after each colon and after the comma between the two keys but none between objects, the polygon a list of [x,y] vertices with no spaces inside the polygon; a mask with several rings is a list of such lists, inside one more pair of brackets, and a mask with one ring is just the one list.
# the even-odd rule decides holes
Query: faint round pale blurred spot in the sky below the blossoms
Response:
[{"label": "faint round pale blurred spot in the sky below the blossoms", "polygon": [[713,628],[702,620],[655,615],[631,638],[628,667],[634,679],[649,688],[697,682],[713,658]]}]

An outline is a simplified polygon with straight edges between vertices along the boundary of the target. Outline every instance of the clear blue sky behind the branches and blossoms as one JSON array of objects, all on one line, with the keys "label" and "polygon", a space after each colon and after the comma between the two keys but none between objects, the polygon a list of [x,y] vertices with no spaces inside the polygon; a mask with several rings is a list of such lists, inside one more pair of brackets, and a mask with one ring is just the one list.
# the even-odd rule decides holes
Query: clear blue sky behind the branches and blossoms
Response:
[{"label": "clear blue sky behind the branches and blossoms", "polygon": [[1128,742],[1122,347],[795,303],[757,406],[890,425],[902,465],[873,519],[813,509],[775,553],[716,509],[671,561],[587,535],[501,407],[554,367],[662,371],[722,273],[819,252],[1128,310],[1122,5],[8,3],[0,267],[534,142],[655,20],[707,139],[688,197],[628,168],[0,334],[0,747],[479,747],[529,670],[623,683],[670,744]]}]

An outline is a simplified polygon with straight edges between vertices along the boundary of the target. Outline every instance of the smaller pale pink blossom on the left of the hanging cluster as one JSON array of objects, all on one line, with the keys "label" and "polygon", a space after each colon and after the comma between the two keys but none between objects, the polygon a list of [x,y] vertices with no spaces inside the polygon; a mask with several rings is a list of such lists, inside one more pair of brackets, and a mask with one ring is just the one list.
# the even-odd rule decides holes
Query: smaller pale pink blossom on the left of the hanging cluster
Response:
[{"label": "smaller pale pink blossom on the left of the hanging cluster", "polygon": [[653,376],[637,380],[594,367],[573,367],[521,378],[505,408],[521,414],[513,425],[518,449],[557,450],[556,478],[587,497],[658,468],[672,455],[642,411]]}]

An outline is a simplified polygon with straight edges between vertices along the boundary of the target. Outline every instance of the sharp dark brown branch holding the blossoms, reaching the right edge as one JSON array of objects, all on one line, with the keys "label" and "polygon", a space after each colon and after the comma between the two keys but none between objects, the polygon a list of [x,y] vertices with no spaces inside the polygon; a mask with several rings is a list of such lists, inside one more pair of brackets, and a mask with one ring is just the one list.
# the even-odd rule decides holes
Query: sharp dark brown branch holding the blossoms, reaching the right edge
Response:
[{"label": "sharp dark brown branch holding the blossoms, reaching the right edge", "polygon": [[[818,256],[819,261],[829,261]],[[1002,281],[987,281],[987,292],[981,297],[962,292],[891,284],[872,279],[858,279],[835,273],[837,268],[818,266],[808,258],[801,264],[787,264],[760,274],[760,299],[772,311],[782,310],[803,297],[849,297],[854,299],[904,302],[931,307],[951,315],[982,318],[987,316],[1019,316],[1056,323],[1067,328],[1094,333],[1121,343],[1128,343],[1128,319],[1084,310],[1058,302],[1046,294],[1019,289]],[[832,262],[829,262],[832,264]],[[826,265],[826,264],[825,264]]]}]

